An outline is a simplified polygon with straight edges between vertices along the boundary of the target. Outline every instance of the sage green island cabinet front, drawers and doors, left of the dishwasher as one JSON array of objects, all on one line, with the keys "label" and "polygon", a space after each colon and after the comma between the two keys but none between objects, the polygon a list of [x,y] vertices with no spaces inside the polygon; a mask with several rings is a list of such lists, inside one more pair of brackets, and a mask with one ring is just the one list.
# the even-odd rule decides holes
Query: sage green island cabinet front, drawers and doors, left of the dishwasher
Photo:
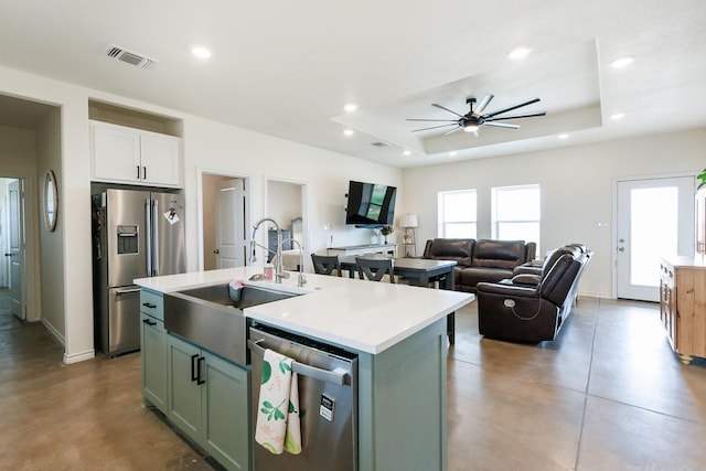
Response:
[{"label": "sage green island cabinet front, drawers and doors, left of the dishwasher", "polygon": [[[140,304],[160,311],[163,319],[161,295],[142,289]],[[226,469],[249,470],[249,371],[167,332],[157,317],[148,318],[141,345],[146,404]],[[153,334],[157,327],[161,336]]]}]

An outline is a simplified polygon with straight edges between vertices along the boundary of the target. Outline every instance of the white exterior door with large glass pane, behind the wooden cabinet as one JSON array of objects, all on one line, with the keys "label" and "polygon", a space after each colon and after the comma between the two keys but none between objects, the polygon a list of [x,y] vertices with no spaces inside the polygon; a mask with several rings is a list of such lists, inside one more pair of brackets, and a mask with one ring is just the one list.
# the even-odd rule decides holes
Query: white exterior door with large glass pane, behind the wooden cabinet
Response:
[{"label": "white exterior door with large glass pane, behind the wooden cabinet", "polygon": [[660,257],[694,256],[694,178],[618,182],[618,298],[660,300]]}]

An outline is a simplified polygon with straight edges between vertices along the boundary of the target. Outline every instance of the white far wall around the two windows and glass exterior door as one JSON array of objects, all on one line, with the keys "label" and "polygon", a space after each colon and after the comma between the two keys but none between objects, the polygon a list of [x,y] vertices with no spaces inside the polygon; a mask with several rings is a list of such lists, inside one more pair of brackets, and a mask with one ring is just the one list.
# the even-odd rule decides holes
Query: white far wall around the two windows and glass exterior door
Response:
[{"label": "white far wall around the two windows and glass exterior door", "polygon": [[[491,188],[538,183],[543,249],[585,243],[596,253],[579,291],[611,297],[613,189],[617,179],[698,173],[706,167],[706,129],[591,146],[480,159],[405,171],[405,207],[419,216],[419,249],[437,236],[437,193],[478,190],[478,237],[491,236]],[[605,222],[605,228],[596,223]],[[655,215],[659,224],[659,215]]]}]

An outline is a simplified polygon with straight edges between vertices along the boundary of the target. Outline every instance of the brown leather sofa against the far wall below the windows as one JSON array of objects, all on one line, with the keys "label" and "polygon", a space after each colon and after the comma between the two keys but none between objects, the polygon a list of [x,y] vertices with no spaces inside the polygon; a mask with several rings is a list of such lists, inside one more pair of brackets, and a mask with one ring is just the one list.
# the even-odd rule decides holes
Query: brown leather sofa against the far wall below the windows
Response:
[{"label": "brown leather sofa against the far wall below the windows", "polygon": [[513,277],[513,269],[534,259],[537,245],[524,240],[435,238],[427,240],[422,258],[456,260],[454,289],[475,292],[481,281]]}]

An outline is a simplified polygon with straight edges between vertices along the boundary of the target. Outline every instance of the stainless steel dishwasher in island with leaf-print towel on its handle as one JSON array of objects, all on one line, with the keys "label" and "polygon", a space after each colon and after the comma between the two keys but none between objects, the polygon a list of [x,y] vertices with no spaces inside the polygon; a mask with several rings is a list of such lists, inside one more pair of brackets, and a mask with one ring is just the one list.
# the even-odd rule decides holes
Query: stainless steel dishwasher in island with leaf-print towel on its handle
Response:
[{"label": "stainless steel dishwasher in island with leaf-print towel on its handle", "polygon": [[272,454],[254,441],[255,471],[357,470],[357,356],[267,325],[249,328],[253,437],[265,349],[293,360],[301,419],[300,454]]}]

